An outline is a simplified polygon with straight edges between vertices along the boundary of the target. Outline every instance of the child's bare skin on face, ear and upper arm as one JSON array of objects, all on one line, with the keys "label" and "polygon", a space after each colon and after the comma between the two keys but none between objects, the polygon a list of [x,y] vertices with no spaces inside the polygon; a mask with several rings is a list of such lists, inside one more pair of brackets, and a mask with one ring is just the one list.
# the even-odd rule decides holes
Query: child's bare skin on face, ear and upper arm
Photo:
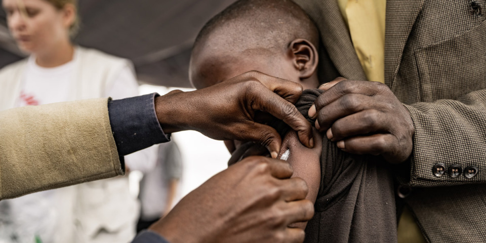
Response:
[{"label": "child's bare skin on face, ear and upper arm", "polygon": [[[224,30],[224,26],[221,28]],[[225,34],[224,31],[217,31],[207,36],[207,40],[200,44],[202,46],[195,48],[189,70],[191,82],[196,88],[224,84],[232,76],[249,70],[258,70],[291,80],[306,89],[314,89],[318,86],[315,73],[318,62],[317,50],[306,39],[291,39],[288,41],[287,48],[282,48],[280,52],[275,49],[239,50],[224,45],[230,41],[230,35]],[[287,148],[291,149],[289,163],[295,171],[293,177],[302,178],[309,185],[306,199],[312,203],[315,202],[320,185],[321,153],[320,135],[314,133],[313,136],[314,148],[309,149],[298,142],[295,132],[289,132],[279,150],[281,155]],[[233,152],[230,165],[249,155],[268,154],[264,147],[258,144],[248,144],[239,140],[225,141],[228,150]],[[306,224],[307,222],[300,222],[290,226],[305,229]]]}]

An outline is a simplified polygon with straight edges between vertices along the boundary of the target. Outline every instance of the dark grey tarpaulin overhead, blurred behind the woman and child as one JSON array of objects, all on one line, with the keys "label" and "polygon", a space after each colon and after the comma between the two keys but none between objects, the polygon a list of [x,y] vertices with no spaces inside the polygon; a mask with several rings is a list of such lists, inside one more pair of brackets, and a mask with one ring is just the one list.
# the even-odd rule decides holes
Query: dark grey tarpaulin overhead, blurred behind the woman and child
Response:
[{"label": "dark grey tarpaulin overhead, blurred behind the woman and child", "polygon": [[[190,87],[187,67],[197,32],[234,1],[79,0],[82,26],[75,42],[131,59],[141,82]],[[2,10],[0,67],[21,57]]]}]

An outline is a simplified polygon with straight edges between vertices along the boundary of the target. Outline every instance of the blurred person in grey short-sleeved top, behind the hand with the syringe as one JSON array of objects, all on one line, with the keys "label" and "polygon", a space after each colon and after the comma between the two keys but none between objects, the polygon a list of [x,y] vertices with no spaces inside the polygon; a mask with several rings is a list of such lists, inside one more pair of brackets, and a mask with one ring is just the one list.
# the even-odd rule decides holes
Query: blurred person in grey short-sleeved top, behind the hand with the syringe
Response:
[{"label": "blurred person in grey short-sleeved top, behind the hand with the syringe", "polygon": [[182,177],[182,157],[177,143],[171,141],[156,147],[155,167],[145,172],[140,181],[137,233],[169,213]]}]

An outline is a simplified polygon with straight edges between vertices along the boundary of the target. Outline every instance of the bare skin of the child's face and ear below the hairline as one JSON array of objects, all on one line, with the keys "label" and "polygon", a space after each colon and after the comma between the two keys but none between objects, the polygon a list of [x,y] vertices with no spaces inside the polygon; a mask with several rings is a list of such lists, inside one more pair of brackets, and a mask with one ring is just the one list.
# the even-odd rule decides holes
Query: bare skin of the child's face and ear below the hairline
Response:
[{"label": "bare skin of the child's face and ear below the hairline", "polygon": [[[278,53],[234,49],[225,45],[229,39],[231,36],[217,32],[207,36],[201,46],[194,48],[189,67],[194,87],[210,87],[251,70],[291,80],[302,85],[304,89],[315,89],[318,86],[315,73],[317,50],[306,39],[291,39],[288,47]],[[225,141],[230,152],[235,149],[234,143],[239,142]]]}]

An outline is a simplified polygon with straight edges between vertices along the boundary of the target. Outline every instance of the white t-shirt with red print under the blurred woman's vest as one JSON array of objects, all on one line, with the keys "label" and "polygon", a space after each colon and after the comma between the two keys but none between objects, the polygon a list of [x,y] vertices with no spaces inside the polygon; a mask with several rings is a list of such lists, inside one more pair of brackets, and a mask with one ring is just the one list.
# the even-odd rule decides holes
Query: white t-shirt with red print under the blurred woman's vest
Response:
[{"label": "white t-shirt with red print under the blurred woman's vest", "polygon": [[[21,94],[16,102],[17,107],[72,100],[69,97],[69,91],[74,87],[75,78],[72,75],[75,73],[76,62],[79,61],[76,53],[75,50],[71,61],[54,68],[38,66],[35,63],[35,57],[29,57],[24,80],[21,84]],[[107,87],[105,90],[104,97],[122,99],[138,95],[137,81],[128,65],[119,72],[119,76],[112,84],[112,87]],[[143,156],[143,153],[141,156]],[[137,160],[136,155],[135,159],[129,159],[126,163],[141,164],[141,161],[133,160]],[[133,167],[136,167],[135,165]],[[66,211],[70,212],[69,207],[73,203],[72,201],[58,201],[60,198],[59,191],[63,193],[62,190],[65,190],[65,188],[36,192],[7,200],[6,203],[9,204],[13,218],[13,230],[11,232],[15,232],[15,237],[17,237],[17,240],[13,242],[35,242],[32,235],[39,236],[43,242],[58,242],[59,240],[56,240],[56,238],[62,238],[63,232],[60,231],[62,231],[63,225],[58,224],[66,222],[66,217],[69,217],[69,215],[63,214]],[[65,192],[69,193],[68,190],[65,190]],[[63,195],[61,198],[72,200],[69,195]],[[11,233],[8,230],[3,232]],[[4,236],[7,237],[4,238]],[[4,242],[3,240],[9,242],[8,240],[11,240],[8,239],[9,237],[8,235],[0,235],[0,242]]]}]

